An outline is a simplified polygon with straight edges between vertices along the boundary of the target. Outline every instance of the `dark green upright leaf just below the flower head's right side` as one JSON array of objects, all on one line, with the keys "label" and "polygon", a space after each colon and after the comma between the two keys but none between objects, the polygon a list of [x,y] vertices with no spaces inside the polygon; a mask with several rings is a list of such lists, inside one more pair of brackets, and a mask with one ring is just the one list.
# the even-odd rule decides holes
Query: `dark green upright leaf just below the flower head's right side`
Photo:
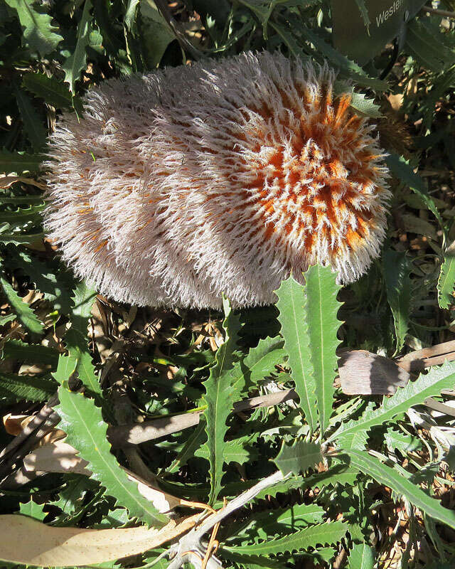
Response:
[{"label": "dark green upright leaf just below the flower head's right side", "polygon": [[410,264],[406,253],[387,249],[382,253],[387,301],[393,314],[395,334],[397,336],[396,352],[405,345],[405,337],[411,312],[411,279]]}]

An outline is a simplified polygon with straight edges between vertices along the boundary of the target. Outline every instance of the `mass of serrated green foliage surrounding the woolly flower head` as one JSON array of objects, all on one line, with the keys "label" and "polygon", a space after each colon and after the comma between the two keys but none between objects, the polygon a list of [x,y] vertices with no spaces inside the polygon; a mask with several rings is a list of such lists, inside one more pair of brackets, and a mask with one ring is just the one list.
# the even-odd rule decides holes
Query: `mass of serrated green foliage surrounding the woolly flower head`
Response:
[{"label": "mass of serrated green foliage surrounding the woolly flower head", "polygon": [[[392,357],[452,339],[454,30],[439,16],[417,14],[390,70],[390,46],[363,66],[334,47],[330,3],[183,1],[169,4],[172,19],[164,4],[0,4],[0,171],[8,176],[0,191],[0,403],[4,414],[37,413],[60,384],[59,427],[93,472],[91,478],[48,474],[29,489],[2,489],[2,511],[55,526],[161,526],[168,519],[121,465],[183,499],[208,498],[217,509],[278,467],[294,474],[221,524],[215,555],[223,566],[284,569],[309,558],[326,568],[344,549],[348,568],[373,568],[395,545],[397,520],[382,515],[392,511],[387,488],[392,500],[404,497],[402,513],[409,514],[400,528],[409,531],[403,568],[418,540],[429,544],[425,566],[442,568],[453,558],[444,524],[454,527],[454,516],[436,496],[449,496],[453,425],[449,415],[434,413],[427,437],[409,416],[429,420],[419,406],[454,387],[454,364],[413,377],[383,400],[346,396],[333,380],[337,349]],[[370,5],[355,4],[371,28]],[[136,307],[102,297],[93,311],[101,317],[92,318],[96,292],[75,284],[43,241],[48,128],[61,112],[81,119],[81,97],[109,78],[250,49],[328,63],[338,73],[334,95],[349,92],[353,110],[378,123],[393,194],[380,260],[343,289],[328,268],[311,267],[305,285],[292,278],[282,283],[277,307],[235,311],[225,300],[224,324],[213,311],[139,308],[136,314]],[[399,110],[390,110],[386,94]],[[22,297],[32,289],[29,306]],[[289,388],[298,400],[240,413],[235,405]],[[107,441],[107,422],[178,422],[192,413],[202,415],[199,425],[164,431],[138,452],[114,449],[114,455]],[[6,432],[0,437],[9,441]],[[440,469],[443,457],[448,466]],[[414,507],[424,520],[418,532]],[[181,513],[188,510],[174,512]],[[368,539],[373,535],[390,536],[380,553]],[[153,563],[165,551],[134,564]],[[414,549],[416,568],[419,561]],[[167,565],[163,558],[155,566]]]}]

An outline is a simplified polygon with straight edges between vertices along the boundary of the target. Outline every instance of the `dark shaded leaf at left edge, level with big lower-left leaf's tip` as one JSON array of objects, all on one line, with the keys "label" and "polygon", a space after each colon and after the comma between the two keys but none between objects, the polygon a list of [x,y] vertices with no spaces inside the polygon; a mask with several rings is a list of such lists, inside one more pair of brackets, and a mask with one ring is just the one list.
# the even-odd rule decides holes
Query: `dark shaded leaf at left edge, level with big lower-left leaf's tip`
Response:
[{"label": "dark shaded leaf at left edge, level with big lower-left leaf's tip", "polygon": [[45,401],[55,393],[57,385],[50,378],[18,376],[0,372],[0,399],[8,403],[17,401]]}]

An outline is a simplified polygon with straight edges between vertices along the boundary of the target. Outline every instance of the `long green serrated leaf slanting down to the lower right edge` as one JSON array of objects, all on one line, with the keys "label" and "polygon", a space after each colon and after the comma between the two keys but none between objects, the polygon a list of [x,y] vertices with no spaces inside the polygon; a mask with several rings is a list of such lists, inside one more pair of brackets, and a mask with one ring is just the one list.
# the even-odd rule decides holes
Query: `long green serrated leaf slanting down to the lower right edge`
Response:
[{"label": "long green serrated leaf slanting down to the lower right edge", "polygon": [[350,450],[346,453],[346,460],[350,467],[354,467],[358,472],[368,474],[380,484],[388,486],[401,496],[405,496],[411,504],[417,506],[425,514],[433,519],[446,523],[447,526],[455,528],[455,511],[441,506],[439,501],[425,494],[425,492],[402,475],[401,472],[387,467],[377,458],[371,457],[366,452],[356,452]]}]

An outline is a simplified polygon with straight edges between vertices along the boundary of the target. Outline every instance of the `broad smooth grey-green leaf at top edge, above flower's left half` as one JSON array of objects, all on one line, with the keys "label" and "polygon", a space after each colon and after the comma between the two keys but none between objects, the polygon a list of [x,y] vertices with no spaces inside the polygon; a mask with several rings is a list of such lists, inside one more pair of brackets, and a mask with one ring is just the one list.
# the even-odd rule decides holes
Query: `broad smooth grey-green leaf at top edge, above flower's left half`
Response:
[{"label": "broad smooth grey-green leaf at top edge, above flower's left half", "polygon": [[176,39],[168,23],[156,9],[152,0],[141,0],[140,11],[142,19],[142,40],[147,65],[150,69],[156,68],[166,51],[169,43]]}]

